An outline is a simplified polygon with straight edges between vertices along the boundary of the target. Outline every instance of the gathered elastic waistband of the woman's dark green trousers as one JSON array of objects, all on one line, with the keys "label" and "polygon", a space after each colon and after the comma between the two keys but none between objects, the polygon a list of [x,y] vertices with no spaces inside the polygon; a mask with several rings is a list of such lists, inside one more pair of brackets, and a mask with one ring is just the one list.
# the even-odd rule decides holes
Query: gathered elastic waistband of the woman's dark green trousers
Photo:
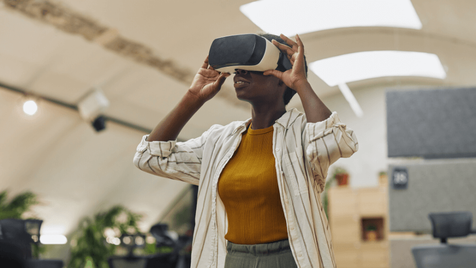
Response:
[{"label": "gathered elastic waistband of the woman's dark green trousers", "polygon": [[228,241],[227,253],[239,257],[263,257],[291,252],[289,240],[279,240],[264,244],[242,245]]}]

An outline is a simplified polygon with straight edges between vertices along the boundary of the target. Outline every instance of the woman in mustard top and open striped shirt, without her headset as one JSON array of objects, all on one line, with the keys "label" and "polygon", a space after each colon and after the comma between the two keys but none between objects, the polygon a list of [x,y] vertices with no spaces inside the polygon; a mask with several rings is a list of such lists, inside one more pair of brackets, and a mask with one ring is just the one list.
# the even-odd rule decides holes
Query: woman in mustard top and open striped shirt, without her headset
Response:
[{"label": "woman in mustard top and open striped shirt, without her headset", "polygon": [[[250,102],[250,119],[175,141],[230,75],[207,57],[180,103],[137,147],[139,169],[199,185],[192,268],[335,267],[320,193],[329,165],[358,143],[309,85],[299,36],[262,36],[287,54],[292,69],[236,70],[236,96]],[[294,93],[305,114],[286,111]]]}]

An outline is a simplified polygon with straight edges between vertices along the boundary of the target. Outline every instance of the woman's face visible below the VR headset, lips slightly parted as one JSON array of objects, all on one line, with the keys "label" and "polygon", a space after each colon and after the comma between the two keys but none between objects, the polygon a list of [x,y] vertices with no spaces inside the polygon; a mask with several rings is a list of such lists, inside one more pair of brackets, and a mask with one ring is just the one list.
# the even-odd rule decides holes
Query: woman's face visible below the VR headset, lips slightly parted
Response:
[{"label": "woman's face visible below the VR headset, lips slightly parted", "polygon": [[[250,103],[283,99],[286,85],[279,78],[237,69],[233,77],[236,97]],[[284,100],[283,100],[284,102]]]}]

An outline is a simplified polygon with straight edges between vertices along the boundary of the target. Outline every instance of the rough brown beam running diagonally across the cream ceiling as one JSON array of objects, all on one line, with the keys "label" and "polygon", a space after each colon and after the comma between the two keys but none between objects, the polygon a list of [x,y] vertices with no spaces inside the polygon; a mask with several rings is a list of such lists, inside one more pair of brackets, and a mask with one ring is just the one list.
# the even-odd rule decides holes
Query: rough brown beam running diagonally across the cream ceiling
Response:
[{"label": "rough brown beam running diagonally across the cream ceiling", "polygon": [[[137,63],[154,68],[177,81],[189,86],[195,72],[179,66],[173,60],[165,59],[140,42],[122,36],[116,29],[101,25],[95,19],[87,17],[68,7],[47,0],[0,0],[9,10],[51,25],[63,32],[83,36],[86,40],[96,43],[114,53],[132,59]],[[244,109],[249,105],[240,101],[231,90],[221,90],[217,97],[229,104]]]}]

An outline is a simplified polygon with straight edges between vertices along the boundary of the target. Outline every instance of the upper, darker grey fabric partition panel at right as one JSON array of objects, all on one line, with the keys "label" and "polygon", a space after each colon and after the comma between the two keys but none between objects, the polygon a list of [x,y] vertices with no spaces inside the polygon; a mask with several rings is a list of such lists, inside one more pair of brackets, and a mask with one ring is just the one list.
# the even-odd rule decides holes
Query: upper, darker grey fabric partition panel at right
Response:
[{"label": "upper, darker grey fabric partition panel at right", "polygon": [[476,157],[476,88],[386,92],[388,157]]}]

